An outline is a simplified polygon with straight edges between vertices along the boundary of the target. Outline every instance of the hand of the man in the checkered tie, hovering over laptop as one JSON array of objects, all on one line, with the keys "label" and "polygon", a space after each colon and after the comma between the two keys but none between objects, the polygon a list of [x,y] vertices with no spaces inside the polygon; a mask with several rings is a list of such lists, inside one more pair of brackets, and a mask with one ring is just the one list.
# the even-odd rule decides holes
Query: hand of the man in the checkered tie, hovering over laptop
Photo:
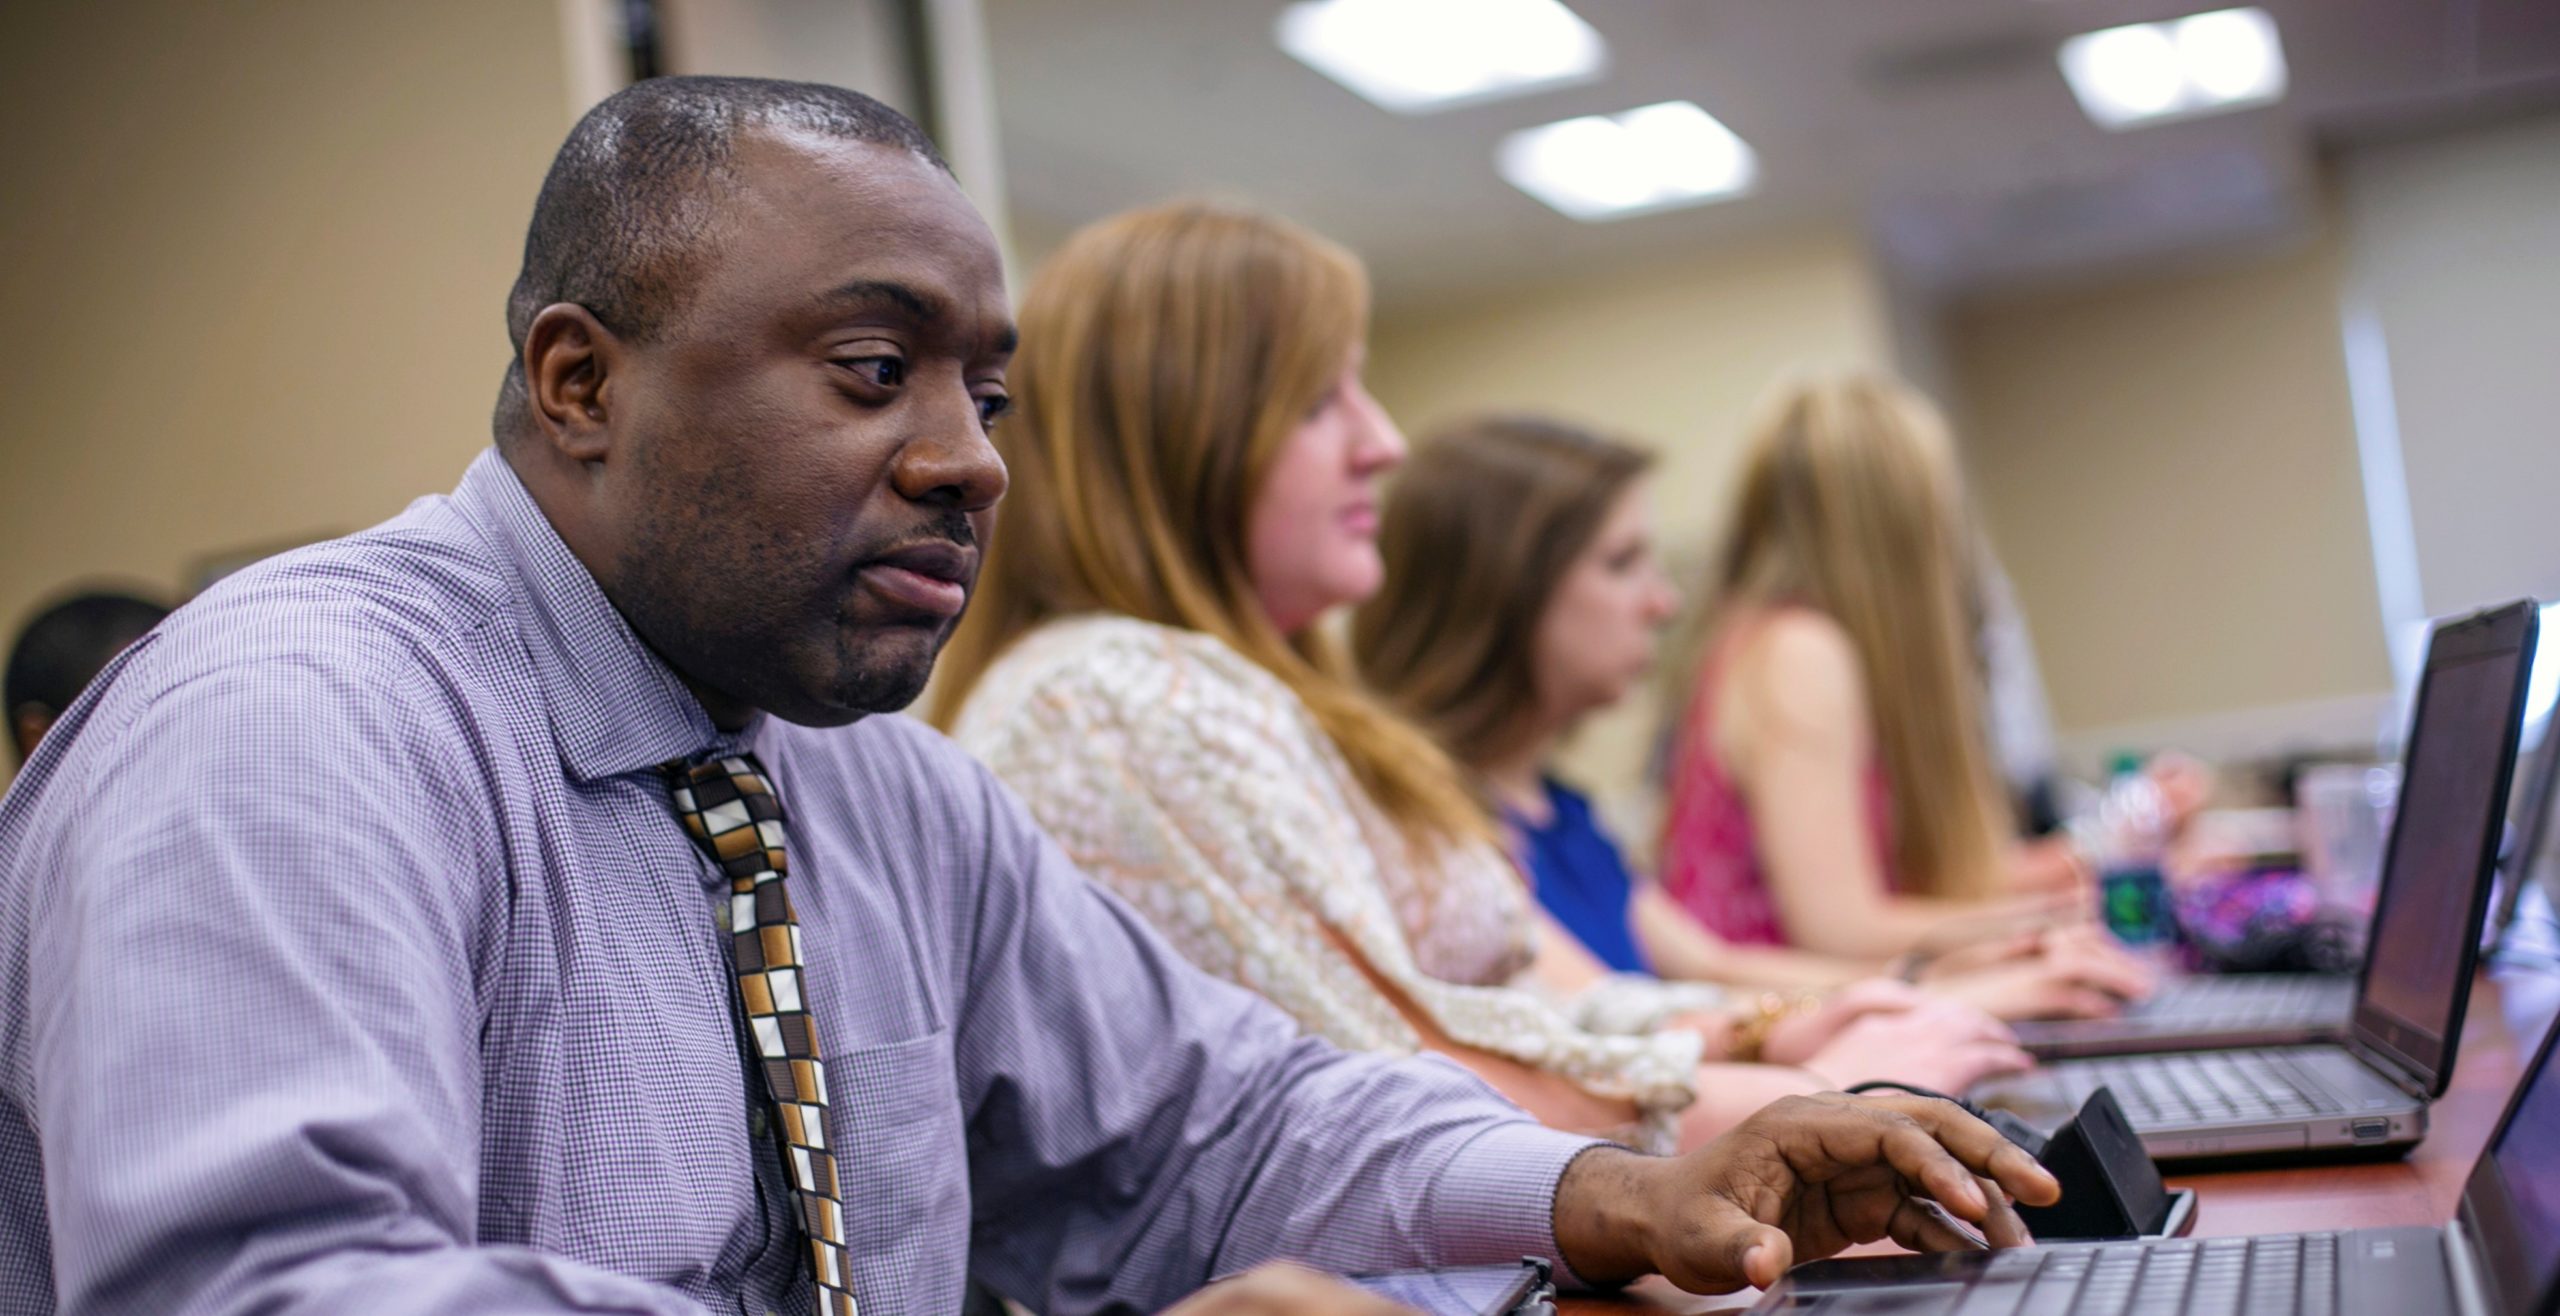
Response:
[{"label": "hand of the man in the checkered tie, hovering over laptop", "polygon": [[1692,1293],[1772,1285],[1800,1260],[1894,1239],[1923,1252],[2030,1242],[2015,1201],[2048,1206],[2061,1183],[1951,1101],[1789,1096],[1669,1160],[1623,1150],[1574,1157],[1556,1183],[1556,1249],[1582,1280],[1659,1272]]}]

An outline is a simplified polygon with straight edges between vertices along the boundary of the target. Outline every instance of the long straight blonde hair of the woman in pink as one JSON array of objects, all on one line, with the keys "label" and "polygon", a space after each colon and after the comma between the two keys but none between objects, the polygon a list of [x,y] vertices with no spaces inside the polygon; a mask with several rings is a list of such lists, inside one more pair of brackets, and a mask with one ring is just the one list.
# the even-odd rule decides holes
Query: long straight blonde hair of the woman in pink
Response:
[{"label": "long straight blonde hair of the woman in pink", "polygon": [[1981,722],[1974,530],[1938,410],[1871,374],[1782,389],[1751,430],[1710,599],[1700,638],[1787,604],[1848,632],[1900,878],[1933,896],[1992,894],[2012,819]]}]

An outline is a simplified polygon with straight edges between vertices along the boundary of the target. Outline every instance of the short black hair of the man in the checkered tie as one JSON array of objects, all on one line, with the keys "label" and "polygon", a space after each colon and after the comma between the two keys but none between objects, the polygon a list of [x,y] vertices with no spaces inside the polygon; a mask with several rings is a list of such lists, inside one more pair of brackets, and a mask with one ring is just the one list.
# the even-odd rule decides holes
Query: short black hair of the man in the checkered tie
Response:
[{"label": "short black hair of the man in the checkered tie", "polygon": [[507,343],[517,356],[499,389],[499,438],[525,410],[522,353],[535,312],[573,302],[645,343],[684,310],[694,264],[717,238],[730,156],[750,131],[893,146],[950,172],[924,128],[845,87],[653,77],[604,97],[568,131],[532,202],[525,269],[507,294]]}]

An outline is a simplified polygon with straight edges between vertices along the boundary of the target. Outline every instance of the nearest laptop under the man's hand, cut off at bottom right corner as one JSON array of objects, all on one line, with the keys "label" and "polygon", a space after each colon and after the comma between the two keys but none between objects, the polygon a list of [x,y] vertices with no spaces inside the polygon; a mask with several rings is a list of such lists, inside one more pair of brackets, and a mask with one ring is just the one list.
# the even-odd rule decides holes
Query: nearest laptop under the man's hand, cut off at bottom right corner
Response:
[{"label": "nearest laptop under the man's hand, cut off at bottom right corner", "polygon": [[2452,1224],[2004,1252],[1787,1272],[1751,1316],[2550,1316],[2560,1308],[2560,1073],[2524,1068]]}]

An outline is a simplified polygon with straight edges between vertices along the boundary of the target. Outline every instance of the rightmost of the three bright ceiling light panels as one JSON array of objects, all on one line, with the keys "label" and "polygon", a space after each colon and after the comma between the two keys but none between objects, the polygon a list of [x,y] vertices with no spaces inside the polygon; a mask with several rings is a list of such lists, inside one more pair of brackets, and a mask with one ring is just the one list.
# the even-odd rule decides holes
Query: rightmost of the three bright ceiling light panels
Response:
[{"label": "rightmost of the three bright ceiling light panels", "polygon": [[2099,128],[2284,100],[2284,44],[2260,8],[2135,23],[2063,41],[2063,79]]}]

